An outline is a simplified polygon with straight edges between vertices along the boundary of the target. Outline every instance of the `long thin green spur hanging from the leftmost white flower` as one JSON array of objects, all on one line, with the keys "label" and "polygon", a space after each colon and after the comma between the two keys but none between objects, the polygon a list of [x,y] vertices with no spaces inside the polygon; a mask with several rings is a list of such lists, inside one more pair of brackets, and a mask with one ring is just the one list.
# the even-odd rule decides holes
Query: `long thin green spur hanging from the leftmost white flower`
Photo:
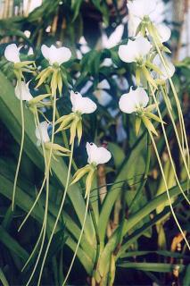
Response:
[{"label": "long thin green spur hanging from the leftmost white flower", "polygon": [[23,152],[24,136],[25,136],[25,122],[24,122],[23,101],[22,101],[22,95],[21,95],[21,73],[20,72],[19,72],[18,84],[20,87],[20,103],[21,103],[21,147],[20,147],[19,159],[18,159],[17,168],[16,168],[16,172],[15,172],[15,177],[14,177],[14,183],[13,183],[12,211],[14,210],[16,186],[17,186],[17,181],[18,181],[18,176],[19,176],[19,171],[20,171],[20,166],[21,166],[21,156],[22,156],[22,152]]}]

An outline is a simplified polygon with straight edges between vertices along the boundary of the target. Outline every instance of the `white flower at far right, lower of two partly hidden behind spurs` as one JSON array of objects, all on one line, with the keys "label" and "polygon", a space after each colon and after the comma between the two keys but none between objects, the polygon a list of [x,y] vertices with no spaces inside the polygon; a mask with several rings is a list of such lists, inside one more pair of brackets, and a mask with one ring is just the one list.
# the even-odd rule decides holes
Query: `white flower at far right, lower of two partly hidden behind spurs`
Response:
[{"label": "white flower at far right, lower of two partly hidden behind spurs", "polygon": [[[163,63],[161,62],[161,58],[159,55],[156,55],[153,59],[153,64],[157,65],[159,69],[162,72],[162,75],[160,75],[161,80],[168,80],[169,78],[172,78],[174,75],[176,68],[173,65],[173,63],[169,62],[169,60],[165,61],[167,65],[167,71]],[[155,74],[155,72],[153,72]]]}]

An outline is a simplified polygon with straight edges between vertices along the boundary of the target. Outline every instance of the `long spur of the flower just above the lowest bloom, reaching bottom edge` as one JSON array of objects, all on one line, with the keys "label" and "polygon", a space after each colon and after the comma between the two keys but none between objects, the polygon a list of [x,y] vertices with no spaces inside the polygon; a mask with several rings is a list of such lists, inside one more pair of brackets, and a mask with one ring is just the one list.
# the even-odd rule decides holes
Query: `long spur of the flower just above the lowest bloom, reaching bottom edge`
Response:
[{"label": "long spur of the flower just above the lowest bloom, reaching bottom edge", "polygon": [[61,214],[62,214],[62,208],[63,208],[64,201],[65,201],[65,198],[66,198],[66,195],[67,195],[67,191],[68,191],[68,188],[69,188],[70,171],[71,171],[73,150],[74,150],[74,141],[73,141],[73,143],[72,143],[72,145],[71,145],[71,149],[70,149],[70,163],[69,163],[69,167],[68,167],[67,181],[66,181],[64,193],[63,193],[63,196],[62,196],[62,203],[61,203],[59,212],[58,212],[58,214],[57,214],[57,217],[56,217],[56,220],[55,220],[55,223],[54,223],[53,231],[52,231],[52,233],[51,233],[51,235],[50,235],[49,241],[48,241],[48,243],[47,243],[47,247],[46,247],[46,249],[45,249],[45,255],[44,255],[44,257],[43,257],[43,261],[42,261],[42,265],[41,265],[41,269],[40,269],[40,273],[39,273],[39,278],[38,278],[38,282],[37,282],[37,286],[40,285],[40,282],[41,282],[41,277],[42,277],[42,273],[43,273],[44,265],[45,265],[45,259],[46,259],[46,257],[47,257],[48,250],[49,250],[49,248],[50,248],[51,242],[52,242],[53,237],[54,237],[54,232],[55,232],[55,230],[56,230],[56,227],[57,227],[57,224],[58,224],[58,222],[59,222],[60,216],[61,216]]}]

